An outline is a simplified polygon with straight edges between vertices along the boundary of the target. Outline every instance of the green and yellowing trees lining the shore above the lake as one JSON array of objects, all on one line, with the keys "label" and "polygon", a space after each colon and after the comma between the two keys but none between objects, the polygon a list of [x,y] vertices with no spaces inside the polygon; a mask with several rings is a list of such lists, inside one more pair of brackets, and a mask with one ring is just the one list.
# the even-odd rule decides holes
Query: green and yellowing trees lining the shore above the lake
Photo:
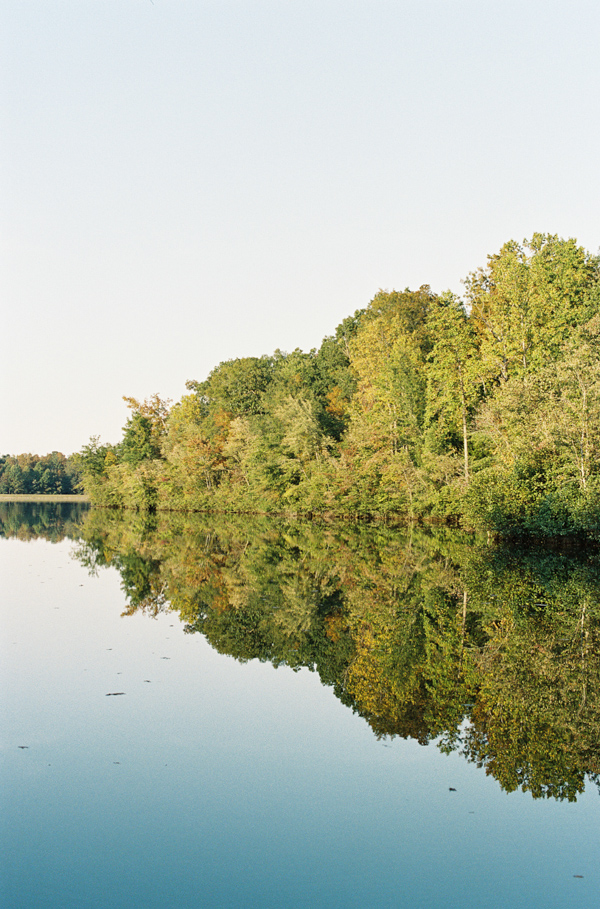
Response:
[{"label": "green and yellowing trees lining the shore above the lake", "polygon": [[[379,291],[318,350],[228,360],[176,404],[126,397],[118,444],[47,457],[104,507],[598,539],[600,257],[534,234],[464,283]],[[0,491],[27,491],[6,479],[27,457]]]}]

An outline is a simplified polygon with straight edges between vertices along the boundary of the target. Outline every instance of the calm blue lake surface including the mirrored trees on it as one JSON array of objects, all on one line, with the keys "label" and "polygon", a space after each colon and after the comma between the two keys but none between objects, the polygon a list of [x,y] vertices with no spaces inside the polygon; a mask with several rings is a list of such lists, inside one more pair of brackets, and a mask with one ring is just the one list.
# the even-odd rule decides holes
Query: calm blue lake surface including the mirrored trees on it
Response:
[{"label": "calm blue lake surface including the mirrored trees on it", "polygon": [[597,554],[0,504],[7,909],[597,907]]}]

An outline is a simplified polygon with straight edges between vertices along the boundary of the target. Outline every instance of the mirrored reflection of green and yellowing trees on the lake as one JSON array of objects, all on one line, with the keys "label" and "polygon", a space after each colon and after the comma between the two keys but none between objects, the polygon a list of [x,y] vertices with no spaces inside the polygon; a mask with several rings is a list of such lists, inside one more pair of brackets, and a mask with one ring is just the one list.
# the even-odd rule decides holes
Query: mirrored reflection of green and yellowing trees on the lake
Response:
[{"label": "mirrored reflection of green and yellowing trees on the lake", "polygon": [[76,557],[126,615],[178,613],[219,652],[318,672],[379,737],[435,740],[507,791],[600,773],[594,554],[443,530],[89,511]]}]

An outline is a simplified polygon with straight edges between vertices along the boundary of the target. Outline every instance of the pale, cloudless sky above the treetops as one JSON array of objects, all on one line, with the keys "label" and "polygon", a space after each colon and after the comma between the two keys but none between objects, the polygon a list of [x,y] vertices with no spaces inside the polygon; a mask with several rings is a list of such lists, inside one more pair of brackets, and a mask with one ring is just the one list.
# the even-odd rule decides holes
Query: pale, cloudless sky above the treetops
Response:
[{"label": "pale, cloudless sky above the treetops", "polygon": [[0,454],[600,247],[598,0],[0,0]]}]

